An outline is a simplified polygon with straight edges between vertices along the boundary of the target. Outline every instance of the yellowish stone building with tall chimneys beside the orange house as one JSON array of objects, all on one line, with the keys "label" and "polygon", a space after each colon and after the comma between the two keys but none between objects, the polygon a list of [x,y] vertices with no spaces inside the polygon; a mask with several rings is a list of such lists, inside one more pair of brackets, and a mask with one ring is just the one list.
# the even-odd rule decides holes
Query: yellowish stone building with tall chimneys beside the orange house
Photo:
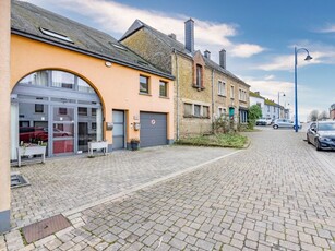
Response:
[{"label": "yellowish stone building with tall chimneys beside the orange house", "polygon": [[226,51],[220,63],[210,51],[194,50],[194,22],[186,22],[186,45],[176,35],[165,35],[136,20],[120,41],[161,71],[175,75],[175,139],[212,131],[215,119],[227,115],[246,123],[249,85],[226,70]]}]

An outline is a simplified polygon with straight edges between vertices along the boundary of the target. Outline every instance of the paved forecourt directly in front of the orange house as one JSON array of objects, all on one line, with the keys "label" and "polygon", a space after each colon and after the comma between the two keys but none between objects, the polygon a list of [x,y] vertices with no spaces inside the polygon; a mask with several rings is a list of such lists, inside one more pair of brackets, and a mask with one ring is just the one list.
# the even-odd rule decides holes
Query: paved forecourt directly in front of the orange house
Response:
[{"label": "paved forecourt directly in front of the orange house", "polygon": [[[31,182],[12,190],[12,227],[22,227],[159,179],[236,150],[161,146],[108,156],[50,159],[12,168]],[[172,157],[171,157],[172,156]]]}]

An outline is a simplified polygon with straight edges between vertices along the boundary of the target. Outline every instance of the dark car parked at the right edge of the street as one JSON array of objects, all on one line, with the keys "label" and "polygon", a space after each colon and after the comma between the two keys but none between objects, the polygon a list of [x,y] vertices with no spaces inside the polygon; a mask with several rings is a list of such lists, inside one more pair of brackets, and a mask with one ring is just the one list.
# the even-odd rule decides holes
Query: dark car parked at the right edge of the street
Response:
[{"label": "dark car parked at the right edge of the street", "polygon": [[313,144],[318,151],[335,150],[335,121],[311,123],[307,131],[307,142]]}]

